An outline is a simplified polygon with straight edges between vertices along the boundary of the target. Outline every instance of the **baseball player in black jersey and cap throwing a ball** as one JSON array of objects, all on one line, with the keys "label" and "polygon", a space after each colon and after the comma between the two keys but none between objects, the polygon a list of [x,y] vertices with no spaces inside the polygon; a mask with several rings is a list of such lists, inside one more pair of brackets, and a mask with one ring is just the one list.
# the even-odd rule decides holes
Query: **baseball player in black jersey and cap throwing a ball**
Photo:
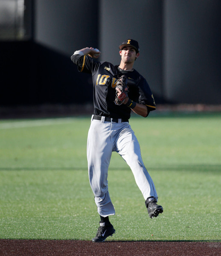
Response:
[{"label": "baseball player in black jersey and cap throwing a ball", "polygon": [[138,42],[128,39],[119,46],[121,61],[116,66],[96,61],[100,53],[86,47],[71,56],[78,70],[90,73],[93,79],[94,110],[87,137],[87,162],[90,186],[100,215],[100,226],[93,242],[103,242],[115,233],[109,220],[115,209],[107,180],[112,151],[120,154],[130,166],[145,199],[149,217],[157,217],[163,212],[163,207],[157,205],[154,182],[144,166],[140,145],[128,122],[131,110],[146,117],[156,109],[147,81],[133,67],[140,56]]}]

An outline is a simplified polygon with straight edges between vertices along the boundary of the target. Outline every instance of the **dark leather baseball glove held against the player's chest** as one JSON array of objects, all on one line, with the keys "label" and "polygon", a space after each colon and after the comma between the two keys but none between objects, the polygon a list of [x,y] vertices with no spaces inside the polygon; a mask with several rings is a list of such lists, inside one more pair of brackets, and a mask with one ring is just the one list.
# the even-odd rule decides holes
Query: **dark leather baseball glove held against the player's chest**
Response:
[{"label": "dark leather baseball glove held against the player's chest", "polygon": [[125,98],[128,97],[128,78],[125,75],[122,75],[117,83],[116,83],[116,88],[119,88],[119,90],[122,91],[122,93],[118,96],[118,90],[116,90],[116,98],[115,98],[115,104],[116,105],[121,105],[124,101]]}]

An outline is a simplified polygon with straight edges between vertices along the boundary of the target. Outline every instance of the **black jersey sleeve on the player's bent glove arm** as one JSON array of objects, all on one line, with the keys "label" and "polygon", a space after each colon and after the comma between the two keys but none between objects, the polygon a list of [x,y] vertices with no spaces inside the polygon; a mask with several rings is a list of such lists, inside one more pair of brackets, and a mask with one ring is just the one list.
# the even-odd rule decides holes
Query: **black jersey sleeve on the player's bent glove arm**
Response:
[{"label": "black jersey sleeve on the player's bent glove arm", "polygon": [[156,104],[154,101],[154,96],[151,92],[149,84],[142,77],[139,82],[139,103],[147,106],[149,111],[156,109]]}]

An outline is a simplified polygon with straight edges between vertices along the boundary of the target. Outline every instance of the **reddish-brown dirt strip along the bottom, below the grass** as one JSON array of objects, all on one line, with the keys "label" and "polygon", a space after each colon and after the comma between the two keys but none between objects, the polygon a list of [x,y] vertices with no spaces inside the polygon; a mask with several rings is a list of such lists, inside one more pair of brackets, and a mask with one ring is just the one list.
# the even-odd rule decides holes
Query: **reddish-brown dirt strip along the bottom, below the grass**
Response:
[{"label": "reddish-brown dirt strip along the bottom, below the grass", "polygon": [[219,242],[0,240],[0,256],[220,256]]}]

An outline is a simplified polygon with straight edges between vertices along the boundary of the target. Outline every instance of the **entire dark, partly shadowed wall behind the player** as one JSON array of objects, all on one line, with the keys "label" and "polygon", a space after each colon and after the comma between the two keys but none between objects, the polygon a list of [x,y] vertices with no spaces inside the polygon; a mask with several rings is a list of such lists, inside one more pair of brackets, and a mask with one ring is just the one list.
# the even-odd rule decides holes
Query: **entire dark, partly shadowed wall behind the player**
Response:
[{"label": "entire dark, partly shadowed wall behind the player", "polygon": [[139,41],[135,68],[158,104],[221,103],[220,0],[25,3],[29,35],[0,41],[1,106],[92,102],[90,76],[70,56],[92,46],[100,61],[119,64],[127,38]]}]

